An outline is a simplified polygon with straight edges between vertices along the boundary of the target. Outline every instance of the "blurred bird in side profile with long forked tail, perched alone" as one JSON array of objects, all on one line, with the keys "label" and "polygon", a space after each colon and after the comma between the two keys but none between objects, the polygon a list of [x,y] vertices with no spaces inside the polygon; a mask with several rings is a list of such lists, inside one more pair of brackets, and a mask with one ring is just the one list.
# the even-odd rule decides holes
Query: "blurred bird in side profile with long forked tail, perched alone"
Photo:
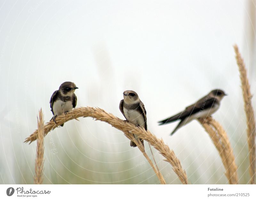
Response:
[{"label": "blurred bird in side profile with long forked tail, perched alone", "polygon": [[214,89],[209,94],[199,99],[196,103],[185,108],[184,111],[173,115],[167,119],[159,121],[159,125],[168,124],[180,119],[180,123],[173,130],[171,135],[175,133],[180,127],[188,124],[193,119],[206,118],[211,116],[220,107],[221,99],[226,96],[225,92],[221,89]]}]

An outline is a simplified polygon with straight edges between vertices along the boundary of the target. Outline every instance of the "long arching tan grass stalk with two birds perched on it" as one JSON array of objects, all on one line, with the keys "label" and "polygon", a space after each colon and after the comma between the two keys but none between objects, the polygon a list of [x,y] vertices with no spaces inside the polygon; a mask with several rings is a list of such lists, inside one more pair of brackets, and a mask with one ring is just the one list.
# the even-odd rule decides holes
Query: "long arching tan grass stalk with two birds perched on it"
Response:
[{"label": "long arching tan grass stalk with two birds perched on it", "polygon": [[[124,132],[124,135],[128,139],[131,139],[131,140],[133,139],[135,143],[137,142],[137,140],[134,139],[133,134],[140,135],[141,139],[145,139],[146,141],[148,141],[148,143],[151,146],[154,146],[156,150],[159,151],[159,153],[165,157],[164,161],[167,161],[172,165],[172,169],[178,175],[180,181],[183,184],[188,184],[188,178],[187,178],[186,172],[185,170],[182,169],[179,159],[176,157],[173,150],[170,150],[169,146],[164,144],[163,139],[158,139],[150,131],[145,131],[144,128],[136,127],[130,123],[127,123],[124,120],[119,119],[114,115],[112,115],[111,113],[107,113],[100,108],[80,107],[80,108],[73,109],[72,112],[68,112],[66,115],[64,114],[60,115],[55,118],[55,122],[57,124],[55,124],[53,121],[50,121],[46,125],[44,125],[44,135],[46,135],[48,132],[56,128],[58,125],[61,125],[64,122],[67,122],[71,119],[77,119],[79,117],[92,117],[92,118],[95,118],[96,120],[106,122],[112,125],[113,127],[117,128],[118,130]],[[31,143],[35,141],[37,134],[38,134],[38,130],[32,133],[25,140],[25,142]],[[142,150],[140,149],[140,151]],[[161,178],[160,178],[160,181],[161,181]]]}]

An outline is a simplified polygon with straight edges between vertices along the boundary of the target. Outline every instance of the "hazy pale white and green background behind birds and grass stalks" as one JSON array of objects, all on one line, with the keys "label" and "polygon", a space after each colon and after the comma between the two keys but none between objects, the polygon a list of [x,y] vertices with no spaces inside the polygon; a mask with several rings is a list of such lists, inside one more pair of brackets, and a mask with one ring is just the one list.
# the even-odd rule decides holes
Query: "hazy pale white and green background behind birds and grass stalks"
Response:
[{"label": "hazy pale white and green background behind birds and grass stalks", "polygon": [[[239,183],[248,183],[233,45],[245,59],[254,94],[254,1],[0,2],[0,183],[33,183],[36,142],[23,141],[36,129],[41,107],[45,122],[52,118],[50,97],[65,81],[79,87],[77,107],[97,106],[122,119],[123,91],[135,90],[145,104],[148,129],[174,150],[196,184],[228,182],[211,139],[196,121],[172,137],[177,122],[158,126],[157,121],[223,89],[228,96],[213,116],[234,148]],[[255,97],[252,104],[256,108]],[[79,120],[45,137],[45,184],[158,181],[122,132],[92,118]],[[180,184],[171,165],[155,157],[166,183]]]}]

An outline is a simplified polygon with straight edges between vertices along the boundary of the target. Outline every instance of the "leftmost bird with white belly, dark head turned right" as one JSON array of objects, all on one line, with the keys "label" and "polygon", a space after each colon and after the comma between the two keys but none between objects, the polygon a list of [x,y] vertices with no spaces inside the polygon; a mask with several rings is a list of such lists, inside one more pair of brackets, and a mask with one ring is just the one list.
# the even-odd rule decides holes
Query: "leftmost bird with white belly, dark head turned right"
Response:
[{"label": "leftmost bird with white belly, dark head turned right", "polygon": [[[50,100],[51,111],[53,114],[52,119],[55,120],[57,115],[61,115],[68,111],[71,111],[76,107],[76,95],[75,90],[78,89],[73,82],[64,82],[60,85],[60,88],[53,92]],[[51,120],[52,120],[51,119]],[[63,126],[64,124],[60,125]]]}]

